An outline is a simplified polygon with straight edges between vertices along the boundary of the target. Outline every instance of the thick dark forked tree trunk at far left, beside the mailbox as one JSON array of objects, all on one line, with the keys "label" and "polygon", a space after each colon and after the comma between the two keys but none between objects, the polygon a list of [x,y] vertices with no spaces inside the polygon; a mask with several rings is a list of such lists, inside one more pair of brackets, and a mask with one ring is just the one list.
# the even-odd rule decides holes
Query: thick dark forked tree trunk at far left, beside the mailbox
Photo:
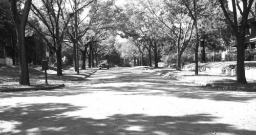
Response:
[{"label": "thick dark forked tree trunk at far left, beside the mailbox", "polygon": [[[15,23],[16,33],[17,33],[17,44],[18,44],[18,56],[19,56],[19,84],[20,85],[30,85],[29,82],[29,71],[26,60],[26,50],[25,50],[25,28],[31,7],[32,0],[26,0],[24,3],[24,9],[20,12],[18,9],[21,7],[17,6],[17,0],[10,0],[10,8],[12,11],[12,18]],[[20,14],[22,13],[22,14]]]}]

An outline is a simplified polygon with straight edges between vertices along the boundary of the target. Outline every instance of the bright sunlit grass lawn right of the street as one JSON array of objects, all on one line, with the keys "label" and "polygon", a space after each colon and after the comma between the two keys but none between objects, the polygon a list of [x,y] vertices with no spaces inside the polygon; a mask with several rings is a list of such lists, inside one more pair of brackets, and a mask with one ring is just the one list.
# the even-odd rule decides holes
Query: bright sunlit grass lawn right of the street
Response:
[{"label": "bright sunlit grass lawn right of the street", "polygon": [[[215,62],[215,63],[205,63],[201,64],[210,68],[221,68],[234,65],[236,62]],[[164,64],[160,64],[164,65]],[[196,86],[206,86],[207,84],[223,85],[223,86],[234,86],[234,87],[245,87],[245,88],[255,88],[256,91],[256,78],[254,77],[256,72],[256,62],[245,62],[246,78],[248,84],[238,84],[236,76],[230,76],[225,74],[219,74],[215,72],[199,72],[199,75],[195,75],[195,71],[190,71],[188,69],[183,69],[182,71],[177,71],[172,68],[167,67],[137,67],[145,70],[145,72],[152,72],[167,77],[172,80],[177,80],[185,83],[186,85],[196,85]]]}]

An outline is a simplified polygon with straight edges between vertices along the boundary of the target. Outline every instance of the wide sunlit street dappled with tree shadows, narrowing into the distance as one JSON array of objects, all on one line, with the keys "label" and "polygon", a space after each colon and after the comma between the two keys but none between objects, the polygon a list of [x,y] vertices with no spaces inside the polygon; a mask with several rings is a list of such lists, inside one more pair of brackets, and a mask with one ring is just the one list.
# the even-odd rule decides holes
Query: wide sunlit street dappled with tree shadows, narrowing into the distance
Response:
[{"label": "wide sunlit street dappled with tree shadows, narrowing into the distance", "polygon": [[0,93],[0,134],[256,134],[256,93],[185,86],[133,68],[75,87]]}]

